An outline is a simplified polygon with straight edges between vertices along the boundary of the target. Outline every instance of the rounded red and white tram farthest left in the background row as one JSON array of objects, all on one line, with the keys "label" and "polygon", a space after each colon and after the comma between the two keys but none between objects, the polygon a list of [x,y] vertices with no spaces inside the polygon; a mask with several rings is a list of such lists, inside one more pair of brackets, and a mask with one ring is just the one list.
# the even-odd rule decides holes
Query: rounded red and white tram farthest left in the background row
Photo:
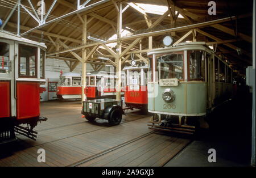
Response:
[{"label": "rounded red and white tram farthest left in the background row", "polygon": [[57,86],[57,98],[61,100],[80,100],[81,93],[81,74],[64,73],[60,76],[60,82]]}]

